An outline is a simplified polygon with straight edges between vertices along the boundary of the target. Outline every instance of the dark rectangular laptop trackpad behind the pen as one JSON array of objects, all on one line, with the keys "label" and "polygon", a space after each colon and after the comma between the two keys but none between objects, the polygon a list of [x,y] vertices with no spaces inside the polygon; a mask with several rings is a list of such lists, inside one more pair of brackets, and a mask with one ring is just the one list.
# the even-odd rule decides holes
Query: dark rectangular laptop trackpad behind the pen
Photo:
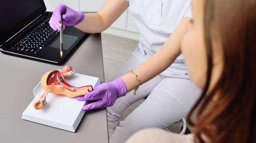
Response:
[{"label": "dark rectangular laptop trackpad behind the pen", "polygon": [[[70,35],[65,35],[63,34],[63,50],[68,50],[73,44],[74,42],[76,42],[76,40],[78,39],[78,37],[76,36],[70,36]],[[60,37],[58,37],[58,39],[56,39],[52,45],[50,45],[50,47],[53,48],[60,48],[60,42],[61,39]]]}]

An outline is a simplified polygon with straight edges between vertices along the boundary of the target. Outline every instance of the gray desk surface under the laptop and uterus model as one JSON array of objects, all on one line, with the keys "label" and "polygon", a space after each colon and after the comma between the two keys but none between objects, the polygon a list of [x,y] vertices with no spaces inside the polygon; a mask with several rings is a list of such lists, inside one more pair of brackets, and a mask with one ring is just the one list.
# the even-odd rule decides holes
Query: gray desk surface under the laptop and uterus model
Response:
[{"label": "gray desk surface under the laptop and uterus model", "polygon": [[21,119],[33,88],[50,70],[70,65],[104,82],[101,34],[88,36],[68,58],[54,65],[0,53],[0,143],[108,143],[106,108],[85,112],[75,133]]}]

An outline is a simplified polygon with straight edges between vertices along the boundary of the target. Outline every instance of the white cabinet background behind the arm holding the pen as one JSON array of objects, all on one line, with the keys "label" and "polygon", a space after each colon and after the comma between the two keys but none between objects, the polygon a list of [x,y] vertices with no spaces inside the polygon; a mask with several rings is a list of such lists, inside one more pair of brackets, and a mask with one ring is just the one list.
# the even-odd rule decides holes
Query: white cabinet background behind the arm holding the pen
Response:
[{"label": "white cabinet background behind the arm holding the pen", "polygon": [[[59,3],[63,3],[76,11],[97,12],[106,1],[107,0],[44,0],[44,3],[47,11],[54,11]],[[104,31],[104,33],[139,40],[139,31],[131,18],[129,8],[127,8],[116,22]]]}]

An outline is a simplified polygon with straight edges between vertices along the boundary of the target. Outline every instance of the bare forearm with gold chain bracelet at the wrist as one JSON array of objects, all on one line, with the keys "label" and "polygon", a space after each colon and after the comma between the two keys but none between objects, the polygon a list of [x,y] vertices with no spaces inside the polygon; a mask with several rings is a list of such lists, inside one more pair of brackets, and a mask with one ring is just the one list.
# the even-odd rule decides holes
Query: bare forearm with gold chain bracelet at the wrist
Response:
[{"label": "bare forearm with gold chain bracelet at the wrist", "polygon": [[[148,58],[145,62],[143,62],[139,67],[133,70],[135,73],[137,73],[141,84],[162,73],[180,55],[181,39],[186,32],[186,24],[189,20],[190,18],[188,17],[183,18],[171,36],[169,36],[167,41],[164,43],[162,48],[153,56]],[[138,81],[135,79],[133,74],[127,73],[121,78],[125,82],[127,92],[130,92],[137,87]]]}]

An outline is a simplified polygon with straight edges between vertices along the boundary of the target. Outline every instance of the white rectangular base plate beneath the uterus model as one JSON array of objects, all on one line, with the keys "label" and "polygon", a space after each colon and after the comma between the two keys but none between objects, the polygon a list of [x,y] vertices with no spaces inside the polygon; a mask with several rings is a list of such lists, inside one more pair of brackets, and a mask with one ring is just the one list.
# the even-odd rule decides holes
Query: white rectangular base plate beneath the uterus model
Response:
[{"label": "white rectangular base plate beneath the uterus model", "polygon": [[[92,85],[94,88],[100,84],[99,78],[79,73],[74,73],[72,77],[65,78],[65,80],[75,87]],[[33,108],[34,102],[37,101],[39,96],[44,92],[40,83],[41,82],[39,82],[37,87],[33,90],[35,98],[23,112],[22,119],[70,132],[76,132],[76,128],[85,113],[82,107],[88,104],[88,102],[77,101],[76,98],[70,98],[65,95],[49,93],[46,98],[47,105],[40,110],[36,110]]]}]

